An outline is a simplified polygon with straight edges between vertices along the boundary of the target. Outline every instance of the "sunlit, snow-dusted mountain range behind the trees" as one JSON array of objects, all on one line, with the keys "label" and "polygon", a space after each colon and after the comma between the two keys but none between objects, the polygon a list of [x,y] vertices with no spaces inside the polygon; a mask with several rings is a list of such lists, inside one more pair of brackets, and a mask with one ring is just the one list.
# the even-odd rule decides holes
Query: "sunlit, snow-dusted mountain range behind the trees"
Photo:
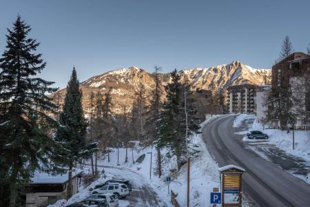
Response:
[{"label": "sunlit, snow-dusted mountain range behind the trees", "polygon": [[[219,88],[225,90],[228,86],[243,83],[264,84],[266,79],[270,77],[271,70],[254,69],[243,65],[240,61],[233,61],[226,65],[212,66],[210,68],[180,70],[180,74],[183,81],[185,79],[189,80],[192,84],[192,90],[196,90],[196,88],[208,89],[215,94]],[[169,81],[169,73],[161,74],[160,78],[163,85],[165,85]],[[150,92],[155,84],[154,75],[142,68],[130,67],[91,77],[81,83],[83,107],[87,110],[91,92],[101,91],[105,93],[109,88],[112,88],[114,112],[119,113],[124,108],[130,110],[140,82],[145,86],[146,92]],[[62,101],[65,96],[65,89],[59,90],[55,94],[60,95]],[[164,91],[163,99],[165,99]]]}]

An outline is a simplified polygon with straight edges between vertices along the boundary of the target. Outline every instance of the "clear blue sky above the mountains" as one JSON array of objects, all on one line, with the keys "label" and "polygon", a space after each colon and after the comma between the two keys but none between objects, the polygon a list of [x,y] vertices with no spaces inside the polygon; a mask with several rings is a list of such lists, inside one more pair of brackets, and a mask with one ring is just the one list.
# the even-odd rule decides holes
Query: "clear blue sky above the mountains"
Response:
[{"label": "clear blue sky above the mountains", "polygon": [[48,66],[42,77],[65,87],[138,66],[152,72],[230,63],[271,68],[289,35],[310,43],[310,1],[15,1],[0,0],[0,52],[17,14],[30,26]]}]

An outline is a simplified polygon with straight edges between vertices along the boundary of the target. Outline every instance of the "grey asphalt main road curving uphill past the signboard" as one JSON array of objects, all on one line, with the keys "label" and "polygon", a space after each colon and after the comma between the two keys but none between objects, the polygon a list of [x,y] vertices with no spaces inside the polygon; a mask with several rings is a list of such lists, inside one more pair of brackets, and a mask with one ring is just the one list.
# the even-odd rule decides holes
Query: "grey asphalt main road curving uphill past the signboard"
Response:
[{"label": "grey asphalt main road curving uphill past the signboard", "polygon": [[234,117],[220,117],[203,128],[203,139],[220,166],[245,168],[243,192],[254,206],[310,206],[310,186],[278,166],[242,148],[234,139]]}]

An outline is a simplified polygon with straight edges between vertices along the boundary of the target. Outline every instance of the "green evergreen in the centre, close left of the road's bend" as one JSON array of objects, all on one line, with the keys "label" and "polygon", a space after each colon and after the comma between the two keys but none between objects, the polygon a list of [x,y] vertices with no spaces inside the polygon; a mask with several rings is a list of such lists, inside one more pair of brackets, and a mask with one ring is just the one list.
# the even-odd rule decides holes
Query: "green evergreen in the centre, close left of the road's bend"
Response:
[{"label": "green evergreen in the centre, close left of the road's bend", "polygon": [[170,75],[172,81],[165,86],[167,101],[163,104],[161,111],[156,146],[158,148],[171,148],[172,153],[176,155],[179,170],[180,160],[187,154],[186,142],[189,141],[187,130],[188,135],[190,135],[192,132],[197,132],[199,126],[195,124],[196,118],[192,106],[185,107],[189,86],[180,83],[180,75],[176,70]]}]

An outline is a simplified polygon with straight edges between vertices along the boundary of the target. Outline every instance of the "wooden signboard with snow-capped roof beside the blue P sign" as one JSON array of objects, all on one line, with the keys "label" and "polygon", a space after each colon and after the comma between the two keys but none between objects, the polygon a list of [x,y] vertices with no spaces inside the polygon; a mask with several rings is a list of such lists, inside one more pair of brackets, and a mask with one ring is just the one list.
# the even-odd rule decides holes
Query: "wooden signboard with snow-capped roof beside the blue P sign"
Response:
[{"label": "wooden signboard with snow-capped roof beside the blue P sign", "polygon": [[224,166],[219,170],[222,179],[222,206],[241,206],[242,173],[245,170],[233,165]]}]

